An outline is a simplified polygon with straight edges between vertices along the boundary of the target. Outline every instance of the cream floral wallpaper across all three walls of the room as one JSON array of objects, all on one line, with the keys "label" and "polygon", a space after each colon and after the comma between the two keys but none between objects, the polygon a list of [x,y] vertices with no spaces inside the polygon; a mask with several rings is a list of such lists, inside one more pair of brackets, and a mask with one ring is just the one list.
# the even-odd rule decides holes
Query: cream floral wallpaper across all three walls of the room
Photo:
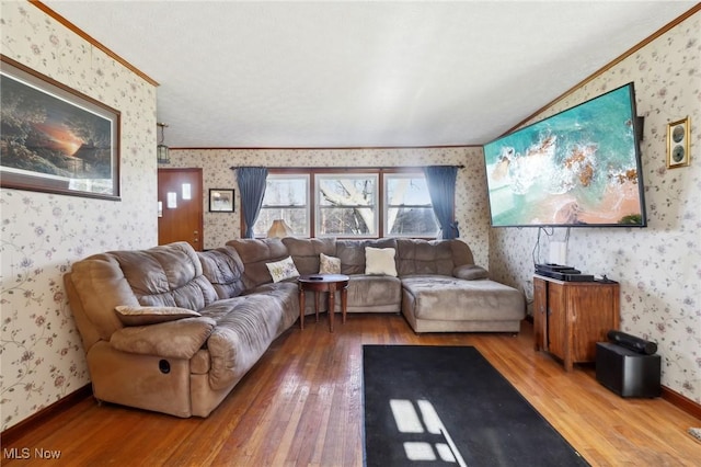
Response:
[{"label": "cream floral wallpaper across all three walls of the room", "polygon": [[[567,263],[621,283],[621,327],[658,342],[663,384],[701,403],[701,14],[570,93],[538,118],[635,82],[645,116],[648,227],[573,229]],[[89,383],[62,285],[89,254],[157,243],[156,89],[28,2],[2,0],[1,52],[122,112],[122,201],[0,190],[1,430]],[[128,57],[127,57],[128,58]],[[666,124],[690,117],[691,167],[668,170]],[[210,187],[233,187],[232,166],[464,164],[456,213],[461,238],[493,278],[532,296],[536,229],[491,229],[481,148],[172,150],[170,167],[202,167],[205,248],[240,236],[234,214],[207,213]],[[152,201],[149,202],[149,200]],[[143,209],[143,206],[153,206]],[[541,239],[540,261],[548,241]]]}]

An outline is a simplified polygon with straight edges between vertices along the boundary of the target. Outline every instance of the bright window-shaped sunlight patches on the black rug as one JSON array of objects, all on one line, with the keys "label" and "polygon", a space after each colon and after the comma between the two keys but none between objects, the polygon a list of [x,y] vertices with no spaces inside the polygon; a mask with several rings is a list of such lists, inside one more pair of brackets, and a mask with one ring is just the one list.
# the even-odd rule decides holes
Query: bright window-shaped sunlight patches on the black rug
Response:
[{"label": "bright window-shaped sunlight patches on the black rug", "polygon": [[406,458],[412,462],[443,460],[467,467],[433,403],[417,400],[416,406],[418,410],[411,400],[390,400],[397,430],[412,438],[403,443]]}]

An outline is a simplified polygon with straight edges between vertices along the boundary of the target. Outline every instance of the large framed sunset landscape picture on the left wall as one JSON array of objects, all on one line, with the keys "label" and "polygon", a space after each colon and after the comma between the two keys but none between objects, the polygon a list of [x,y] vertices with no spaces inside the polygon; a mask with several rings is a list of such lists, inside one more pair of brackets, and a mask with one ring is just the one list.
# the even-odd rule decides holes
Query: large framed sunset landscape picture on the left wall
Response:
[{"label": "large framed sunset landscape picture on the left wall", "polygon": [[119,112],[0,56],[2,187],[119,200]]}]

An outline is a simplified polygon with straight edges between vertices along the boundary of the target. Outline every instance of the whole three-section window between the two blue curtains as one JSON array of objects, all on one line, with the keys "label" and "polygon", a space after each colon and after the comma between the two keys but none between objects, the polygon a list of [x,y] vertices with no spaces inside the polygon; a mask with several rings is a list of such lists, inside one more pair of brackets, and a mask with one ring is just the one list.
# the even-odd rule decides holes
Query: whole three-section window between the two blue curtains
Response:
[{"label": "whole three-section window between the two blue curtains", "polygon": [[402,167],[272,169],[255,237],[267,237],[275,219],[284,219],[297,237],[436,238],[439,232],[424,173]]}]

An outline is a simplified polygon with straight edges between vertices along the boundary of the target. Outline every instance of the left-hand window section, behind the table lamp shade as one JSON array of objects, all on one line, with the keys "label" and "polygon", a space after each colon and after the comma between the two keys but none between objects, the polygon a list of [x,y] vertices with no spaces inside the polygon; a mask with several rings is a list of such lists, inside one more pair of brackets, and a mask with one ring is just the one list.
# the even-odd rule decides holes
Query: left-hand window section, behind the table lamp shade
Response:
[{"label": "left-hand window section, behind the table lamp shade", "polygon": [[296,236],[309,237],[309,175],[268,174],[255,237],[266,237],[273,220],[284,219]]}]

